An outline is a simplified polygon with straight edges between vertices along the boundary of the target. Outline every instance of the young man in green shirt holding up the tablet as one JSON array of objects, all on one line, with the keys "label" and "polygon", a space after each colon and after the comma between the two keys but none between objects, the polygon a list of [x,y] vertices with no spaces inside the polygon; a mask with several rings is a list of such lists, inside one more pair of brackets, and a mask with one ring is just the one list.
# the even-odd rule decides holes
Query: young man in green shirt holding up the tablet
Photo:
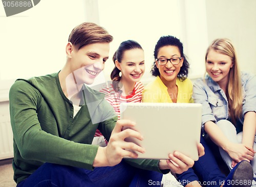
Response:
[{"label": "young man in green shirt holding up the tablet", "polygon": [[[10,89],[10,116],[14,136],[14,180],[25,186],[147,186],[161,181],[161,173],[182,173],[194,161],[181,153],[170,160],[136,158],[126,149],[144,152],[126,137],[142,140],[134,126],[118,120],[104,95],[92,84],[109,58],[113,37],[101,26],[84,22],[70,34],[67,62],[61,71],[28,80],[17,79]],[[108,146],[91,145],[99,129]],[[199,154],[204,153],[199,145]],[[129,163],[129,164],[127,164]],[[152,182],[154,183],[154,182]]]}]

